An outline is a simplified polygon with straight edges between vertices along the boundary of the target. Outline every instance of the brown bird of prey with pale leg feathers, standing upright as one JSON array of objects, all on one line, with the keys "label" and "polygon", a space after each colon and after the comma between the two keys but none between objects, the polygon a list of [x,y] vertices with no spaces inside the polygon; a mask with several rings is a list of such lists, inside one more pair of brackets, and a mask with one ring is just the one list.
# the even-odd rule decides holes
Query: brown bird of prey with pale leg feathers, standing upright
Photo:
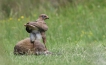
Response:
[{"label": "brown bird of prey with pale leg feathers, standing upright", "polygon": [[30,41],[34,43],[35,40],[43,39],[43,43],[46,43],[46,34],[48,26],[46,25],[45,20],[49,19],[46,14],[41,14],[36,21],[28,22],[26,26],[26,31],[30,33]]}]

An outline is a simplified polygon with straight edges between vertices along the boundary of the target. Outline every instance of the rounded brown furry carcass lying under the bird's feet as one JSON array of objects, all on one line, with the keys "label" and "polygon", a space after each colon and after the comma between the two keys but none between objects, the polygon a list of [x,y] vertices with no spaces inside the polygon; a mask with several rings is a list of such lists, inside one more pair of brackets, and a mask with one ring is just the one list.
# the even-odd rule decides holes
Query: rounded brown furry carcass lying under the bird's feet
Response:
[{"label": "rounded brown furry carcass lying under the bird's feet", "polygon": [[39,41],[35,41],[34,45],[30,42],[30,38],[19,41],[14,47],[14,54],[24,55],[24,54],[48,54],[45,45]]}]

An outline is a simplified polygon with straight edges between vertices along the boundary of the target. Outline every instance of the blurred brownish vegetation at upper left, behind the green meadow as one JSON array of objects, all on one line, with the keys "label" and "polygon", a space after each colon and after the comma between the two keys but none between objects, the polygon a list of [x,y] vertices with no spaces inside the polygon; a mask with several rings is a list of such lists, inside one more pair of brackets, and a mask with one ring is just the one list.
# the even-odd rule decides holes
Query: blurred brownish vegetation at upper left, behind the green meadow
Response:
[{"label": "blurred brownish vegetation at upper left, behind the green meadow", "polygon": [[72,4],[72,0],[0,0],[0,18],[33,16],[35,13],[59,12]]}]

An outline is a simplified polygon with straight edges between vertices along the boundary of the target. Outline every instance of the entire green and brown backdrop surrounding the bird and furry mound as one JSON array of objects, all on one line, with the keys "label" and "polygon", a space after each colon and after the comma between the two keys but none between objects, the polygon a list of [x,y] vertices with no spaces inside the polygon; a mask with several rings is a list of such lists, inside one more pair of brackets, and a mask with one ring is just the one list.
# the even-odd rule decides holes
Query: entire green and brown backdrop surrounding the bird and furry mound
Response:
[{"label": "entire green and brown backdrop surrounding the bird and furry mound", "polygon": [[[24,24],[42,13],[56,55],[15,56]],[[0,65],[106,65],[106,0],[0,0]],[[58,55],[60,54],[60,55]]]}]

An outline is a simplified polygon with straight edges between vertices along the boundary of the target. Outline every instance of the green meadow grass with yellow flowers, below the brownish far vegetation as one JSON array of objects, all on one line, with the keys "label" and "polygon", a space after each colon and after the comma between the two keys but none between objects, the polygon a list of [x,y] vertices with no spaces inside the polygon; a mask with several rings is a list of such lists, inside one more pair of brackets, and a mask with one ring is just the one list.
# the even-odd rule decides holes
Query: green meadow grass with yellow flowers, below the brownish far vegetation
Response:
[{"label": "green meadow grass with yellow flowers, below the brownish far vegetation", "polygon": [[1,65],[106,65],[106,8],[79,5],[66,7],[60,12],[45,11],[47,20],[47,48],[55,53],[48,56],[15,56],[14,45],[29,36],[23,26],[35,20],[9,18],[0,21],[0,64]]}]

